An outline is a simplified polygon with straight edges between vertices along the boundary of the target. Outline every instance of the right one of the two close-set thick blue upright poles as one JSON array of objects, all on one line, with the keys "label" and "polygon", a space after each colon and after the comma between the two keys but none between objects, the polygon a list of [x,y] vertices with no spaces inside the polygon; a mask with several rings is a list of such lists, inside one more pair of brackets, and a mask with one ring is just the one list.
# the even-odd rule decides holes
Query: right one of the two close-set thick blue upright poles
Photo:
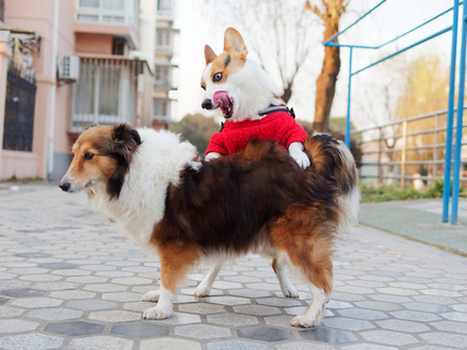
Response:
[{"label": "right one of the two close-set thick blue upright poles", "polygon": [[456,126],[456,145],[454,149],[454,174],[453,174],[453,209],[451,212],[451,223],[457,223],[457,210],[459,203],[460,186],[460,151],[463,143],[463,119],[464,119],[464,88],[466,80],[466,40],[467,40],[467,5],[463,7],[463,31],[460,38],[460,72],[459,72],[459,91],[457,95],[457,126]]}]

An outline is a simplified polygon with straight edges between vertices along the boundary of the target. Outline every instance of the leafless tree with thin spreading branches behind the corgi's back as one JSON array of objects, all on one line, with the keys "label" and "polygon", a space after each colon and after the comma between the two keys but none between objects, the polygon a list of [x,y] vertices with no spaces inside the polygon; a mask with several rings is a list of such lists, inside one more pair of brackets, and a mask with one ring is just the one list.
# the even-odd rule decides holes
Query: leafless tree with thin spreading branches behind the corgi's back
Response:
[{"label": "leafless tree with thin spreading branches behind the corgi's back", "polygon": [[302,1],[206,0],[215,7],[218,19],[233,19],[248,50],[256,54],[269,74],[280,78],[285,103],[292,96],[294,80],[311,56],[312,46],[318,45],[313,38],[318,22],[303,10]]}]

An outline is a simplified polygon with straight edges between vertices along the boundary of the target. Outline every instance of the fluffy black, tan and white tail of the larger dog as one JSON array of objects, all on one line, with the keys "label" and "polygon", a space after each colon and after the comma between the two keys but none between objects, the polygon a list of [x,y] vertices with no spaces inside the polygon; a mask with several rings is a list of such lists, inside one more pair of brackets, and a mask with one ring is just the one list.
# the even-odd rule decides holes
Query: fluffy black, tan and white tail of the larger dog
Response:
[{"label": "fluffy black, tan and white tail of the larger dog", "polygon": [[355,161],[342,141],[328,135],[317,135],[304,143],[312,163],[311,168],[320,176],[335,180],[339,188],[338,200],[342,206],[341,229],[358,223],[360,208],[360,186]]}]

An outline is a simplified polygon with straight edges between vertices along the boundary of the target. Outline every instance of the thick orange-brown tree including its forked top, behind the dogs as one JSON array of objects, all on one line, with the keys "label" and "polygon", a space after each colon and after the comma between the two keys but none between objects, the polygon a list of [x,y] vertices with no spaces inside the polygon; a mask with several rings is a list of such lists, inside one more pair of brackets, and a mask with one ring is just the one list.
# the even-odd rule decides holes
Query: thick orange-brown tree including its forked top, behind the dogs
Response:
[{"label": "thick orange-brown tree including its forked top, behind the dogs", "polygon": [[[316,14],[325,25],[324,40],[329,39],[339,32],[340,18],[346,11],[350,0],[320,0],[320,4],[312,4],[313,0],[305,2],[305,9]],[[316,1],[317,2],[317,1]],[[337,39],[334,42],[338,42]],[[313,129],[329,132],[329,114],[336,94],[336,80],[340,70],[339,47],[325,47],[322,72],[316,80],[315,121]]]}]

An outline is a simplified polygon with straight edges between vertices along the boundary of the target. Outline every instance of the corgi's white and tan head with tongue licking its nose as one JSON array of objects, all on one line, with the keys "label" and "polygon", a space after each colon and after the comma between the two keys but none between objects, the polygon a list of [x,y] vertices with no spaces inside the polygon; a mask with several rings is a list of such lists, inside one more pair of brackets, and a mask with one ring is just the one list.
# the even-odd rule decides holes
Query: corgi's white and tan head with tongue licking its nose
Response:
[{"label": "corgi's white and tan head with tongue licking its nose", "polygon": [[217,56],[205,46],[206,69],[201,88],[206,91],[201,107],[219,108],[232,121],[258,119],[257,113],[269,105],[282,104],[280,89],[256,63],[246,59],[248,50],[240,33],[230,27],[224,35],[224,51]]}]

